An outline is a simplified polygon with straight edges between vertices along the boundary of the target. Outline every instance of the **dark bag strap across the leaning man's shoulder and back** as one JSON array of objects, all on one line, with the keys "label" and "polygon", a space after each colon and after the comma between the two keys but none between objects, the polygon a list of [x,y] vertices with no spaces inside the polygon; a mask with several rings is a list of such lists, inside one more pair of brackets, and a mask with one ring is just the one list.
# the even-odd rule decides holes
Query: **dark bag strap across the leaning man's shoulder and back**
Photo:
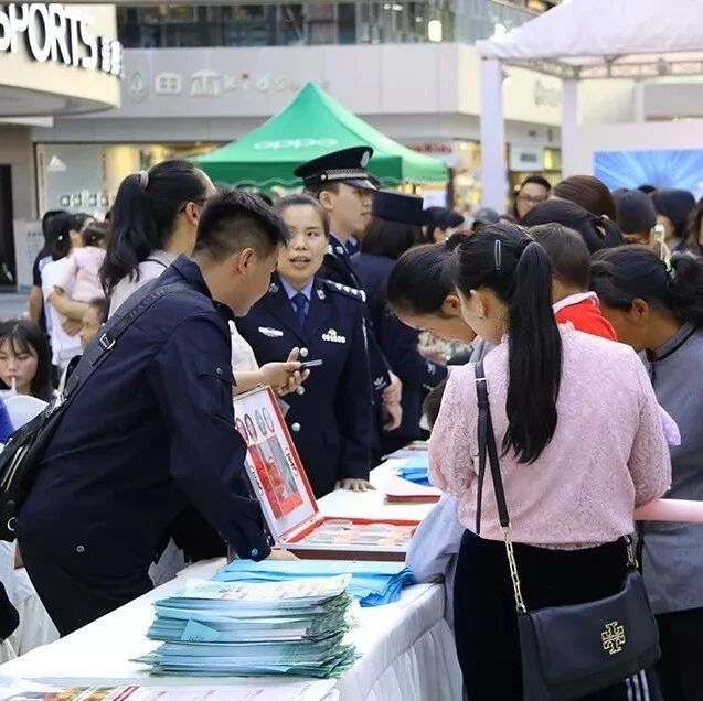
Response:
[{"label": "dark bag strap across the leaning man's shoulder and back", "polygon": [[103,326],[103,332],[99,336],[94,338],[88,347],[85,349],[81,362],[73,370],[71,378],[66,382],[66,389],[64,391],[64,401],[75,395],[75,392],[85,385],[90,375],[97,369],[97,367],[107,357],[113,346],[117,343],[117,339],[134,324],[150,306],[152,306],[160,299],[167,294],[174,292],[183,292],[192,290],[193,287],[187,282],[172,282],[158,288],[149,287],[143,293],[137,294],[137,299],[134,304],[124,313],[114,315]]}]

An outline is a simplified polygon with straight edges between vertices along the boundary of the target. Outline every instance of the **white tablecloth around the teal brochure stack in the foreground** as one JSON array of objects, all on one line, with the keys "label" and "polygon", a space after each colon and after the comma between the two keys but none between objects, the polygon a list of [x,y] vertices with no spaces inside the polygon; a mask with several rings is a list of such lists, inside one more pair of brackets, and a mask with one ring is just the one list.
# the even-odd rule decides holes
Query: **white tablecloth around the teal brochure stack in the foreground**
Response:
[{"label": "white tablecloth around the teal brochure stack in the foreground", "polygon": [[[0,676],[54,683],[222,684],[223,680],[150,678],[129,661],[155,647],[145,637],[152,602],[177,591],[184,578],[211,576],[224,561],[199,563],[169,582],[76,633],[0,665]],[[444,589],[419,584],[400,602],[362,608],[350,632],[362,657],[335,683],[340,701],[459,701],[461,681],[454,638],[444,617]],[[228,679],[227,683],[251,683]],[[271,684],[290,683],[270,680]]]}]

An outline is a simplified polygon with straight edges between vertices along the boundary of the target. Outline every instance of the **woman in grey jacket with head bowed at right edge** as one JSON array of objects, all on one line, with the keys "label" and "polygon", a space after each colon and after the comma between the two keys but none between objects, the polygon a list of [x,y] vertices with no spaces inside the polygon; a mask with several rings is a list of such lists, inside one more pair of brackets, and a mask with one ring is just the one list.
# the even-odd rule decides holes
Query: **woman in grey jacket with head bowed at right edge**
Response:
[{"label": "woman in grey jacket with head bowed at right edge", "polygon": [[[674,254],[667,262],[628,246],[597,254],[590,276],[618,338],[647,353],[654,393],[679,425],[667,497],[703,499],[703,259]],[[659,624],[667,701],[701,698],[702,540],[700,525],[643,525],[642,572]]]}]

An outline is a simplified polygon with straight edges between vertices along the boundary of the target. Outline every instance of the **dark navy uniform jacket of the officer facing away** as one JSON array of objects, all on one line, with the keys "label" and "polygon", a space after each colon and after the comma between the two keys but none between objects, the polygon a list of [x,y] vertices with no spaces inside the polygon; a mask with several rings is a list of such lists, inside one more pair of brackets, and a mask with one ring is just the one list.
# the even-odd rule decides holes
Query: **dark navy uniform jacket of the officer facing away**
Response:
[{"label": "dark navy uniform jacket of the officer facing away", "polygon": [[439,385],[447,377],[447,368],[420,355],[417,349],[419,333],[398,321],[388,308],[386,285],[395,261],[385,256],[358,254],[351,262],[366,292],[376,339],[391,369],[403,382],[403,421],[395,431],[382,434],[384,445],[391,450],[419,438],[425,388]]}]

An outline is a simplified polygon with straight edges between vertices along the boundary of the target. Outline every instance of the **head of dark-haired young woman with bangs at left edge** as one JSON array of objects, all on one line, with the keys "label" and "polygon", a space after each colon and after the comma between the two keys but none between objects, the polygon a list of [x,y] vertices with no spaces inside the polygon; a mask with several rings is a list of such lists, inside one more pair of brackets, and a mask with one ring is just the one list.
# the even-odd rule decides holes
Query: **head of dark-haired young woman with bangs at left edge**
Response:
[{"label": "head of dark-haired young woman with bangs at left edge", "polygon": [[34,322],[15,319],[0,323],[0,389],[50,401],[52,371],[46,336]]}]

